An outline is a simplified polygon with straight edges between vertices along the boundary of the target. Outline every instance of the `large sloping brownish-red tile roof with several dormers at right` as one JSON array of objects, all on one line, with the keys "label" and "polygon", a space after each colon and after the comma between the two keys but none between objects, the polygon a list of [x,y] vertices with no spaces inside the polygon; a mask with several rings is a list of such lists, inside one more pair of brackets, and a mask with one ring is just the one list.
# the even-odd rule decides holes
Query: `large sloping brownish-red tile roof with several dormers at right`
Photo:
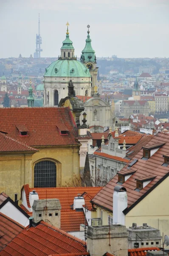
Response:
[{"label": "large sloping brownish-red tile roof with several dormers at right", "polygon": [[[163,178],[169,175],[169,166],[162,166],[164,163],[163,155],[169,151],[169,134],[159,132],[146,144],[146,147],[153,147],[156,144],[163,144],[161,148],[158,149],[148,160],[142,160],[143,149],[141,149],[135,157],[130,160],[130,162],[121,169],[121,175],[126,175],[127,173],[135,172],[131,177],[129,177],[122,186],[127,189],[127,198],[128,198],[128,207],[125,210],[125,214],[134,207],[144,196],[148,194],[154,186],[163,180]],[[129,164],[138,159],[138,162],[135,163],[130,169],[127,169]],[[148,166],[148,167],[147,167]],[[136,179],[140,178],[143,175],[153,175],[155,177],[149,182],[140,192],[135,191],[136,188]],[[104,186],[97,195],[93,198],[93,203],[98,204],[101,207],[113,210],[113,191],[114,187],[117,185],[118,175],[115,175],[106,186]]]}]

